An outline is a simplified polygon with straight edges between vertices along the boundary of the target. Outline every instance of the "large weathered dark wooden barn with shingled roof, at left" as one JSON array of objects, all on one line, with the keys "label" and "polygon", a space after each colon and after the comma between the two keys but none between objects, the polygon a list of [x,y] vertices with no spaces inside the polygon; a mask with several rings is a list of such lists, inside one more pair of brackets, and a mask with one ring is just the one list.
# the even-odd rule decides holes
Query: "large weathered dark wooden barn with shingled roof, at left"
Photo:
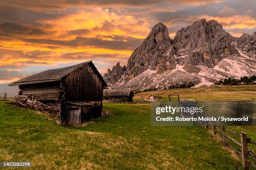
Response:
[{"label": "large weathered dark wooden barn with shingled roof, at left", "polygon": [[81,124],[100,117],[103,89],[107,87],[92,61],[70,67],[51,69],[12,82],[19,86],[19,95],[58,110],[62,125]]}]

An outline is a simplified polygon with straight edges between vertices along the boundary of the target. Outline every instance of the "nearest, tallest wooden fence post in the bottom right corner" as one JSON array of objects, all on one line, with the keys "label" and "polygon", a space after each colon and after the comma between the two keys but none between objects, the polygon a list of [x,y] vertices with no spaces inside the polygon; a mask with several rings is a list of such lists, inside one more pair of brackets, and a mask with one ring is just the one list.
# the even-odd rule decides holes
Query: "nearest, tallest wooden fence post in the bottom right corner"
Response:
[{"label": "nearest, tallest wooden fence post in the bottom right corner", "polygon": [[247,134],[241,132],[242,161],[244,170],[249,170]]}]

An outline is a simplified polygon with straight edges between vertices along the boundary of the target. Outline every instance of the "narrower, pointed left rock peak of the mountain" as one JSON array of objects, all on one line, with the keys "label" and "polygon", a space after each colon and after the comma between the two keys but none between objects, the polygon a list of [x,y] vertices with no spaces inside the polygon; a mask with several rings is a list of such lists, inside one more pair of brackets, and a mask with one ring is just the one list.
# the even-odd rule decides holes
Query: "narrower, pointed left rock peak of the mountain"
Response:
[{"label": "narrower, pointed left rock peak of the mountain", "polygon": [[143,71],[150,68],[157,70],[161,67],[171,68],[176,65],[172,55],[163,55],[163,53],[172,45],[168,30],[162,23],[156,24],[148,37],[132,53],[127,63],[125,74],[128,79],[132,79]]}]

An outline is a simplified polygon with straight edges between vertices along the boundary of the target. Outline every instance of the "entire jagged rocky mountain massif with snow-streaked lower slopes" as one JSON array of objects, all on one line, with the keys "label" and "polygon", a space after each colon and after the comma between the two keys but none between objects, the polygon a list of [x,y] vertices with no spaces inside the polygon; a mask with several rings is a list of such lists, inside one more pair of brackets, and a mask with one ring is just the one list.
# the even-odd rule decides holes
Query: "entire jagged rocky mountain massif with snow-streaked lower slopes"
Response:
[{"label": "entire jagged rocky mountain massif with snow-streaked lower slopes", "polygon": [[212,85],[225,77],[256,74],[256,32],[235,38],[215,20],[196,21],[174,39],[162,23],[134,50],[127,67],[119,63],[104,79],[109,89],[164,88],[183,82]]}]

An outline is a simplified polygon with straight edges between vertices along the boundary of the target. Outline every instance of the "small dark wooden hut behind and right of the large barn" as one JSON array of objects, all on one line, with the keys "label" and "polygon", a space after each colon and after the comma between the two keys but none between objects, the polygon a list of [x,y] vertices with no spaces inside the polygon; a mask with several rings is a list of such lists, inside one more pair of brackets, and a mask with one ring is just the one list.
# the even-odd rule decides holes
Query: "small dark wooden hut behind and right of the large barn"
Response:
[{"label": "small dark wooden hut behind and right of the large barn", "polygon": [[109,102],[133,102],[133,92],[131,90],[116,90],[108,93]]}]

